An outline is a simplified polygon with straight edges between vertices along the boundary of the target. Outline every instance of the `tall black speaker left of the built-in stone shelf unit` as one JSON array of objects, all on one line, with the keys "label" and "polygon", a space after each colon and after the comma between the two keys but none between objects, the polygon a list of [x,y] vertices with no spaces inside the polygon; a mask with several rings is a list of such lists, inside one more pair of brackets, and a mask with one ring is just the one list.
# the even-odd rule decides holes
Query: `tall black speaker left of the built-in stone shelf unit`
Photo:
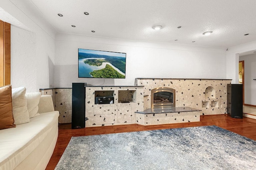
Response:
[{"label": "tall black speaker left of the built-in stone shelf unit", "polygon": [[71,128],[85,128],[85,87],[86,83],[72,83]]}]

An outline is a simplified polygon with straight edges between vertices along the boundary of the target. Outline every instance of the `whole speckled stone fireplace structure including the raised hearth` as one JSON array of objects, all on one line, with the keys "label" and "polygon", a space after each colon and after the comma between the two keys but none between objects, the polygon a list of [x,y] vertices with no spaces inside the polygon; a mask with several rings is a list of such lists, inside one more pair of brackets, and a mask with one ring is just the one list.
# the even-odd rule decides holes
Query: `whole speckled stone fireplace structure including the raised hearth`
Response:
[{"label": "whole speckled stone fireplace structure including the raised hearth", "polygon": [[[137,123],[196,122],[200,121],[200,115],[226,114],[227,84],[230,83],[231,80],[219,79],[136,78],[135,85],[144,86],[144,111],[136,112]],[[175,90],[171,97],[166,93],[160,94],[160,102],[167,100],[173,107],[154,108],[153,102],[158,98],[152,90],[156,89]]]}]

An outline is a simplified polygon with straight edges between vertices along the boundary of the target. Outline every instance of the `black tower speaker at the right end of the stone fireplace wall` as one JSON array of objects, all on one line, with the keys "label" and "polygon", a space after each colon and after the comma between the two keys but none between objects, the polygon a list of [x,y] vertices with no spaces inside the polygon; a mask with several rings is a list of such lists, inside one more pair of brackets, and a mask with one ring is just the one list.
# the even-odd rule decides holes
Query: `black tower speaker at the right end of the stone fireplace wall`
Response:
[{"label": "black tower speaker at the right end of the stone fireplace wall", "polygon": [[228,84],[228,115],[243,118],[243,85]]}]

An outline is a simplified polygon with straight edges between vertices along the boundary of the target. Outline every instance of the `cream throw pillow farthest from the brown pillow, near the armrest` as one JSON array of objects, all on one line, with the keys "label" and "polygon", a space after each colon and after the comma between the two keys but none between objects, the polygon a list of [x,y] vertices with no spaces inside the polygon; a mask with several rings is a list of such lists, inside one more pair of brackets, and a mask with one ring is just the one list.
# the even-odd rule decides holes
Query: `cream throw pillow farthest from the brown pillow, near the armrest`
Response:
[{"label": "cream throw pillow farthest from the brown pillow, near the armrest", "polygon": [[40,92],[26,93],[25,97],[27,99],[29,118],[36,117],[36,116],[40,115],[38,113],[38,103],[39,103],[39,100],[41,97],[41,93]]}]

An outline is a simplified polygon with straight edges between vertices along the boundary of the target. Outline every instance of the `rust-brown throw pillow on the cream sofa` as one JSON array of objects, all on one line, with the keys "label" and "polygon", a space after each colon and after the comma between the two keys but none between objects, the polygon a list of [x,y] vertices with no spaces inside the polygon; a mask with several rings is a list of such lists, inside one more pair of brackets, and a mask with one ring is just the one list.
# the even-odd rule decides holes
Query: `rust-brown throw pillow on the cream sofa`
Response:
[{"label": "rust-brown throw pillow on the cream sofa", "polygon": [[12,86],[0,87],[0,129],[16,127],[12,115]]}]

